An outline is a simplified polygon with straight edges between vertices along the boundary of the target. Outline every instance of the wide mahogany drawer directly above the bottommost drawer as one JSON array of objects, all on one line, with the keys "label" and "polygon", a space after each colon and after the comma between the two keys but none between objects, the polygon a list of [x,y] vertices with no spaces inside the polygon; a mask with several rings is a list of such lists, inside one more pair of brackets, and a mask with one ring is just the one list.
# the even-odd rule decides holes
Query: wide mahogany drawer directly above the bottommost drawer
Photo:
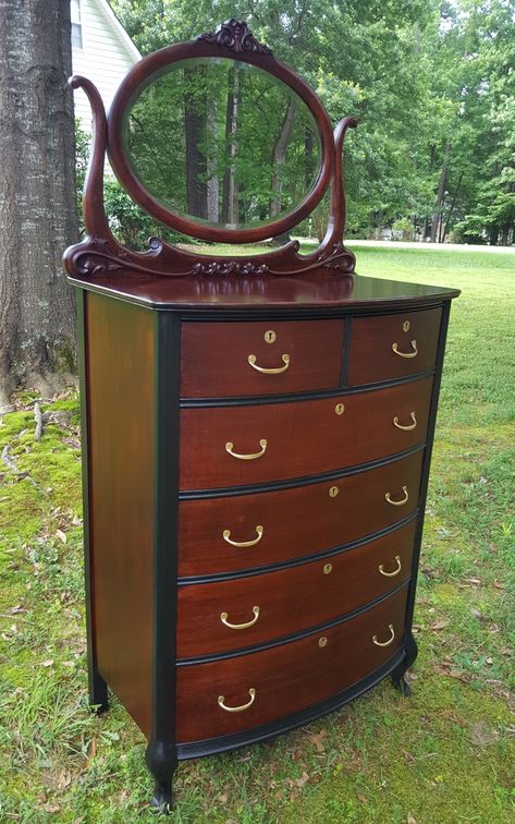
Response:
[{"label": "wide mahogany drawer directly above the bottommost drawer", "polygon": [[416,523],[330,558],[179,587],[177,656],[241,650],[303,632],[387,595],[410,573]]}]

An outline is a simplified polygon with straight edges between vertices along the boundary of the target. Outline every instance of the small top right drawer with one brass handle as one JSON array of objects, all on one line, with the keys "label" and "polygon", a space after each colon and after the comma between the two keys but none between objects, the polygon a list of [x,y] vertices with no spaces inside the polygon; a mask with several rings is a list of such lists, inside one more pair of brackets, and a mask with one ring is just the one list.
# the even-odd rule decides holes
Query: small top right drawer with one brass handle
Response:
[{"label": "small top right drawer with one brass handle", "polygon": [[348,385],[414,375],[437,360],[442,310],[354,318]]}]

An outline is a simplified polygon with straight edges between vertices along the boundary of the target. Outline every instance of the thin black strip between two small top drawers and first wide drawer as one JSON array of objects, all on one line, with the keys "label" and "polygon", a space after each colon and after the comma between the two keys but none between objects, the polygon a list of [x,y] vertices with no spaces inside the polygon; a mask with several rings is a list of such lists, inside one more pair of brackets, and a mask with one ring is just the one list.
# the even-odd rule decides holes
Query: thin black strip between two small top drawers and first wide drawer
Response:
[{"label": "thin black strip between two small top drawers and first wide drawer", "polygon": [[[348,369],[348,363],[346,364]],[[321,389],[317,392],[296,392],[291,395],[247,395],[235,398],[183,398],[181,399],[181,409],[198,409],[199,407],[255,407],[269,403],[296,403],[298,401],[323,400],[324,398],[336,398],[347,395],[359,395],[360,392],[372,392],[377,389],[388,389],[391,386],[401,386],[402,384],[412,384],[416,380],[434,375],[434,368],[426,372],[415,372],[413,375],[403,375],[402,377],[391,378],[390,380],[376,381],[375,384],[356,384],[356,386],[336,387],[335,389]],[[345,376],[346,379],[346,376]]]}]

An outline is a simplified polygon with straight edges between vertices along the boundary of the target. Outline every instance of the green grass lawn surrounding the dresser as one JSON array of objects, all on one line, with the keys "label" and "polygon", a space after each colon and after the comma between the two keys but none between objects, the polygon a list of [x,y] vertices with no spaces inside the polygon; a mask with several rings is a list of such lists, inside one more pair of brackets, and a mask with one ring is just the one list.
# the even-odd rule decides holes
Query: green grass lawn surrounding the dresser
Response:
[{"label": "green grass lawn surrounding the dresser", "polygon": [[[351,244],[352,246],[352,244]],[[415,630],[385,680],[274,741],[187,762],[176,822],[515,820],[515,255],[357,250],[361,275],[456,287]],[[0,821],[150,820],[145,741],[86,700],[77,398],[0,425]],[[9,464],[9,465],[8,465]]]}]

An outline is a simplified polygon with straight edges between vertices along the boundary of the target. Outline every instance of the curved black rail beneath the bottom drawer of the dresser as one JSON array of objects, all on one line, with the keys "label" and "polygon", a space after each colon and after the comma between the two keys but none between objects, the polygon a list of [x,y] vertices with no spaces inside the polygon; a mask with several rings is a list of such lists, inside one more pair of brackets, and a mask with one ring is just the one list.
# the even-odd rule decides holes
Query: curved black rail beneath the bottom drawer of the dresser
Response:
[{"label": "curved black rail beneath the bottom drawer of the dresser", "polygon": [[219,736],[205,741],[180,743],[177,744],[177,758],[180,761],[185,761],[186,759],[197,759],[203,755],[213,755],[219,752],[226,752],[228,750],[236,750],[241,747],[259,743],[268,738],[274,738],[283,732],[289,732],[296,727],[303,727],[306,724],[310,724],[317,718],[334,712],[343,706],[343,704],[347,704],[350,701],[363,695],[364,692],[367,692],[379,683],[379,681],[382,681],[383,678],[390,675],[390,672],[402,663],[404,655],[404,650],[401,650],[381,667],[373,672],[370,672],[370,675],[363,678],[357,683],[348,687],[346,690],[338,692],[330,699],[327,699],[319,704],[315,704],[314,706],[309,706],[307,710],[303,710],[299,713],[283,716],[272,724],[254,727],[244,730],[243,732],[236,732],[232,736]]}]

